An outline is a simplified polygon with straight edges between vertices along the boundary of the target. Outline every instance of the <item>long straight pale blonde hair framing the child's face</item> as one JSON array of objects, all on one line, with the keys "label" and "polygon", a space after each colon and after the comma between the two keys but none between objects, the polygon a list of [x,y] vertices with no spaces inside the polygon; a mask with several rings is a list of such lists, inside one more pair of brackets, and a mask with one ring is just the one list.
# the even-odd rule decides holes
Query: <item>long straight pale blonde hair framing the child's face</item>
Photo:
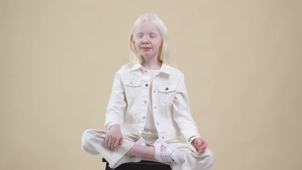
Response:
[{"label": "long straight pale blonde hair framing the child's face", "polygon": [[146,14],[141,15],[136,20],[136,22],[133,24],[133,27],[131,29],[130,36],[129,36],[129,45],[130,45],[130,49],[131,49],[130,60],[132,62],[136,62],[139,60],[140,63],[142,63],[142,56],[138,53],[137,49],[135,48],[135,45],[133,44],[132,36],[133,36],[133,33],[138,29],[140,23],[144,20],[149,20],[150,22],[152,22],[152,24],[159,29],[159,32],[161,34],[163,45],[159,49],[158,60],[165,63],[165,65],[175,66],[174,64],[172,64],[170,62],[170,56],[169,56],[170,55],[170,44],[169,44],[169,40],[168,40],[167,28],[166,28],[164,22],[154,13],[146,13]]}]

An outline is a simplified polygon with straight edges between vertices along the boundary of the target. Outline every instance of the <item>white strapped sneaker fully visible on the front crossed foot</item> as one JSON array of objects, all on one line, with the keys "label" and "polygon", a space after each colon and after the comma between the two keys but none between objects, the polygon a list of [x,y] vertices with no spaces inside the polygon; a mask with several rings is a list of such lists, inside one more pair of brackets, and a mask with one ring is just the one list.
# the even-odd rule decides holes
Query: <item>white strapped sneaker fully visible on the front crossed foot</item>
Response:
[{"label": "white strapped sneaker fully visible on the front crossed foot", "polygon": [[185,160],[178,151],[178,149],[172,145],[167,144],[162,139],[157,139],[154,143],[155,159],[160,162],[176,162],[184,163]]}]

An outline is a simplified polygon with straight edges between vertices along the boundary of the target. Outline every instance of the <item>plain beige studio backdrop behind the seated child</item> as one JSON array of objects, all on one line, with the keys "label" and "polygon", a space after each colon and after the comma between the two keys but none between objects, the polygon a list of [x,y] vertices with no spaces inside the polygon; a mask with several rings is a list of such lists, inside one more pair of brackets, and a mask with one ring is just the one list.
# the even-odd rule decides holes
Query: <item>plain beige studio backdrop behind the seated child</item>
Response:
[{"label": "plain beige studio backdrop behind the seated child", "polygon": [[104,169],[81,135],[103,129],[145,12],[167,26],[212,169],[300,169],[301,11],[299,0],[1,1],[0,169]]}]

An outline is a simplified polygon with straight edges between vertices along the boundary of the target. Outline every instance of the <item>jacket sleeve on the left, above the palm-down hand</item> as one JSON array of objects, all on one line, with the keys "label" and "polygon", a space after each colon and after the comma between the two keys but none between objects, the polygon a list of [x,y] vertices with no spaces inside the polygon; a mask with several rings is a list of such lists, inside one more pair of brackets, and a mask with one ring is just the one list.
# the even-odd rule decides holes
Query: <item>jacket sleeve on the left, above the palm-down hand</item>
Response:
[{"label": "jacket sleeve on the left, above the palm-down hand", "polygon": [[125,89],[119,72],[115,73],[112,92],[109,103],[107,105],[105,129],[109,130],[113,124],[121,125],[123,123],[123,115],[126,112]]}]

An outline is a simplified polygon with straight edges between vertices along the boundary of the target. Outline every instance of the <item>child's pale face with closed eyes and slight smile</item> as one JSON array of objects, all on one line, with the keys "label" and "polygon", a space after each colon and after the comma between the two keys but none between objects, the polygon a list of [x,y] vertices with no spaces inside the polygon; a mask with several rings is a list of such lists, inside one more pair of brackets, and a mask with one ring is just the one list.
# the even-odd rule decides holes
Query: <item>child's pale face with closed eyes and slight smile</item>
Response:
[{"label": "child's pale face with closed eyes and slight smile", "polygon": [[160,32],[149,20],[144,20],[133,33],[133,43],[138,53],[146,58],[157,58],[162,46]]}]

